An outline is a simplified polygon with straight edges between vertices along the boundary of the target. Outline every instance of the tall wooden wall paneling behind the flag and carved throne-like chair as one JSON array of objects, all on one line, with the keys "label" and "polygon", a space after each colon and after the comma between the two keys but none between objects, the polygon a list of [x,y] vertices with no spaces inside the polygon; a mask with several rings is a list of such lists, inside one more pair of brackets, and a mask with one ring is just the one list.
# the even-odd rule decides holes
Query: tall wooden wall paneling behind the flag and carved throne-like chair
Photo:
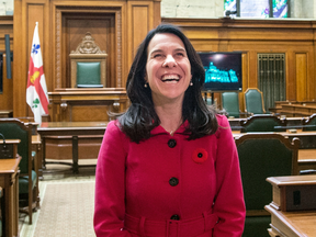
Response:
[{"label": "tall wooden wall paneling behind the flag and carved throne-like chair", "polygon": [[14,58],[14,116],[33,115],[24,101],[35,21],[40,23],[48,91],[69,87],[68,55],[87,31],[109,54],[106,86],[122,88],[126,83],[134,47],[160,23],[160,0],[15,0],[14,52],[19,54]]}]

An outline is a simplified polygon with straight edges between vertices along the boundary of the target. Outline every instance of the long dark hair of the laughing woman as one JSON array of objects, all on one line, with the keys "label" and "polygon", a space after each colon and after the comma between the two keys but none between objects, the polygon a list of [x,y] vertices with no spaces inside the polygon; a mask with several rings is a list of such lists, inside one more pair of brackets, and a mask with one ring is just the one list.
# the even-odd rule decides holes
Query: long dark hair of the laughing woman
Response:
[{"label": "long dark hair of the laughing woman", "polygon": [[215,110],[210,110],[202,98],[201,90],[205,71],[201,58],[181,30],[171,24],[160,24],[151,30],[138,47],[126,82],[126,92],[132,104],[126,113],[119,119],[121,129],[132,142],[139,143],[149,138],[150,131],[160,124],[160,120],[154,109],[151,90],[149,87],[145,88],[144,84],[148,44],[156,34],[161,33],[174,34],[183,42],[191,64],[193,86],[189,86],[185,91],[182,105],[182,119],[189,122],[184,133],[189,135],[189,139],[214,134],[218,124]]}]

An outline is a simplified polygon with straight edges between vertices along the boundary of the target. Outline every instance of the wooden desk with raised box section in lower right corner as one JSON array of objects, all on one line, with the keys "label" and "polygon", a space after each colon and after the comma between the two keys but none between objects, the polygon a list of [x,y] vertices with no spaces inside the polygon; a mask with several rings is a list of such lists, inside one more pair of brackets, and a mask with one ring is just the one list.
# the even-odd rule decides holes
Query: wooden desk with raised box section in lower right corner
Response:
[{"label": "wooden desk with raised box section in lower right corner", "polygon": [[267,181],[273,185],[273,201],[264,206],[271,214],[269,235],[316,236],[316,176],[272,177]]}]

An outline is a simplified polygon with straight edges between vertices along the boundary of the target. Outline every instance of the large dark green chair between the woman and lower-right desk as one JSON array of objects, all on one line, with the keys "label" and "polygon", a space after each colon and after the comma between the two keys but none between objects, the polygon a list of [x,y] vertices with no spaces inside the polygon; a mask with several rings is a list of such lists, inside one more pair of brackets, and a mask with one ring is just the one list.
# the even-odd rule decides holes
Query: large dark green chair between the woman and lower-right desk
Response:
[{"label": "large dark green chair between the woman and lower-right desk", "polygon": [[300,139],[273,133],[244,134],[235,139],[241,171],[246,203],[242,237],[269,236],[270,214],[264,205],[272,201],[268,177],[298,174]]}]

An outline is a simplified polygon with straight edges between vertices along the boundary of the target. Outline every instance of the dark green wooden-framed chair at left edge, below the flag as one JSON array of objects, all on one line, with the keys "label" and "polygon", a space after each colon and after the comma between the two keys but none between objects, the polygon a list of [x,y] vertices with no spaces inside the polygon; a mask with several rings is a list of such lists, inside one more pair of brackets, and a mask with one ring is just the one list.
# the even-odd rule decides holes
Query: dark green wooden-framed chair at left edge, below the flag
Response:
[{"label": "dark green wooden-framed chair at left edge, below the flag", "polygon": [[27,198],[27,206],[21,207],[20,212],[29,214],[29,223],[32,224],[32,212],[40,207],[38,196],[38,167],[32,162],[32,126],[26,126],[16,119],[0,119],[0,133],[5,139],[20,139],[18,154],[22,157],[20,161],[19,196]]}]

